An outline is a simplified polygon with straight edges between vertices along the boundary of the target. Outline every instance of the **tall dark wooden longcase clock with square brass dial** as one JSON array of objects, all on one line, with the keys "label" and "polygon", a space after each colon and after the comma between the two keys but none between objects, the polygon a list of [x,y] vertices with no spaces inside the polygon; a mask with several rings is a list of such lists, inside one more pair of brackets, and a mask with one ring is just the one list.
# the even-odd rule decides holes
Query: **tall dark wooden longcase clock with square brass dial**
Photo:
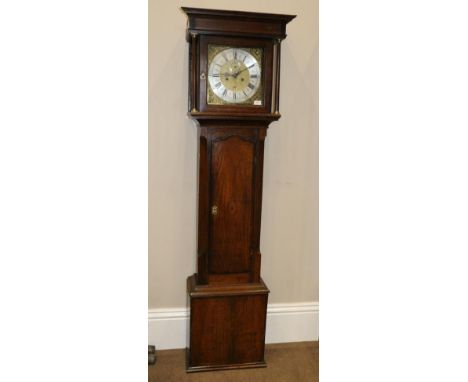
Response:
[{"label": "tall dark wooden longcase clock with square brass dial", "polygon": [[187,279],[187,371],[264,367],[263,149],[280,118],[281,41],[295,16],[182,8],[198,128],[197,273]]}]

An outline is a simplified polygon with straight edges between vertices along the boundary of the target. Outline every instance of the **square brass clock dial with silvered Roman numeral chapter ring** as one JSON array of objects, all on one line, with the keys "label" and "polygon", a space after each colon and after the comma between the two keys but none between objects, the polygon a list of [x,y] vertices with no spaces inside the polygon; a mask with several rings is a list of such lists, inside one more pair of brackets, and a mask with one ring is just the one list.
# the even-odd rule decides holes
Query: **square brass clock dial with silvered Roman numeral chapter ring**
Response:
[{"label": "square brass clock dial with silvered Roman numeral chapter ring", "polygon": [[262,105],[261,49],[217,48],[208,61],[208,104]]}]

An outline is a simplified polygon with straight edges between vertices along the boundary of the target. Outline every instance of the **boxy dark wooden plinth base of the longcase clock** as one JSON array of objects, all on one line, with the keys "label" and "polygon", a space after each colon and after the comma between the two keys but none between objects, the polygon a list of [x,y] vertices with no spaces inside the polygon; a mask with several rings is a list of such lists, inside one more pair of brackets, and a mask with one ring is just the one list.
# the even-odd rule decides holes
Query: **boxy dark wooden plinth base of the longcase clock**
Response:
[{"label": "boxy dark wooden plinth base of the longcase clock", "polygon": [[187,372],[265,367],[267,286],[197,285],[187,279]]}]

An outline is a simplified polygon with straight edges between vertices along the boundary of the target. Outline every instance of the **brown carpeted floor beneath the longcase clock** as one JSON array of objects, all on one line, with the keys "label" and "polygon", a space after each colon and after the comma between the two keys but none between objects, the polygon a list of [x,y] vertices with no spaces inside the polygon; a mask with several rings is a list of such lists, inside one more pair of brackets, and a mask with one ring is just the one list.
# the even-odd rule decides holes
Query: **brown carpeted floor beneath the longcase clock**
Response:
[{"label": "brown carpeted floor beneath the longcase clock", "polygon": [[214,372],[185,372],[185,349],[156,352],[148,367],[148,382],[318,382],[318,342],[267,345],[266,368]]}]

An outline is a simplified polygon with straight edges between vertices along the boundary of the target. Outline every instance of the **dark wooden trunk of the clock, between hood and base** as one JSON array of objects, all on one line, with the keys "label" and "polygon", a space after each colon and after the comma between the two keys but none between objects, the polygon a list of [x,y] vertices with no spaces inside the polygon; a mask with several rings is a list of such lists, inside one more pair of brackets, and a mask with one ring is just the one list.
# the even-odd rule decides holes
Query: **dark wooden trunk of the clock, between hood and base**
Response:
[{"label": "dark wooden trunk of the clock, between hood and base", "polygon": [[198,282],[259,282],[268,123],[199,123]]}]

